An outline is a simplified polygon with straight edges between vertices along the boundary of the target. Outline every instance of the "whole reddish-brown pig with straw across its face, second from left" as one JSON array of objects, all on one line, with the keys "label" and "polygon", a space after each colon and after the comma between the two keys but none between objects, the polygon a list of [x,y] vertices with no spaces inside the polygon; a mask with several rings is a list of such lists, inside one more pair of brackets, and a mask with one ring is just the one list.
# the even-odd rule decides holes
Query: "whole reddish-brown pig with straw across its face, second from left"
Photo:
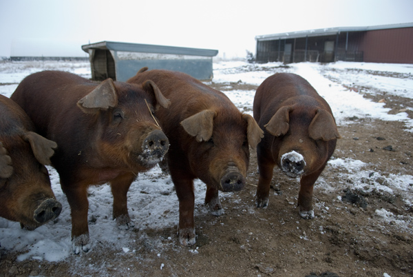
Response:
[{"label": "whole reddish-brown pig with straw across its face, second from left", "polygon": [[169,148],[153,116],[170,104],[159,88],[150,80],[140,85],[112,79],[94,83],[69,72],[43,71],[23,79],[11,99],[23,107],[39,134],[59,145],[51,161],[71,209],[74,254],[91,249],[89,185],[109,183],[116,224],[132,227],[129,186]]}]

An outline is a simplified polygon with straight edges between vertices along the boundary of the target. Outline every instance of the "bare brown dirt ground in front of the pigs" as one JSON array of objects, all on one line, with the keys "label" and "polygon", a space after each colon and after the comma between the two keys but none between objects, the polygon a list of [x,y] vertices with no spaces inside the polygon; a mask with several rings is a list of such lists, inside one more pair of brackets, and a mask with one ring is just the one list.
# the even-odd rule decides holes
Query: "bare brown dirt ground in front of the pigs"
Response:
[{"label": "bare brown dirt ground in front of the pigs", "polygon": [[[212,84],[218,89],[222,85]],[[225,90],[245,86],[224,84]],[[401,103],[412,107],[410,99],[386,96],[385,101],[392,112],[398,112]],[[403,123],[357,117],[349,122],[339,127],[342,139],[335,158],[367,163],[363,170],[370,176],[412,174],[413,134],[403,130]],[[400,195],[347,189],[354,180],[343,176],[345,169],[326,168],[321,177],[340,189],[329,192],[316,185],[315,218],[304,220],[296,207],[297,179],[275,169],[270,204],[257,209],[257,163],[251,152],[245,189],[222,197],[224,215],[195,217],[198,238],[193,247],[181,246],[176,227],[171,227],[134,229],[131,239],[140,245],[135,253],[120,254],[97,243],[92,252],[61,263],[18,262],[19,253],[0,249],[0,276],[413,276],[413,232],[376,214],[385,208],[410,220],[412,227],[412,207]]]}]

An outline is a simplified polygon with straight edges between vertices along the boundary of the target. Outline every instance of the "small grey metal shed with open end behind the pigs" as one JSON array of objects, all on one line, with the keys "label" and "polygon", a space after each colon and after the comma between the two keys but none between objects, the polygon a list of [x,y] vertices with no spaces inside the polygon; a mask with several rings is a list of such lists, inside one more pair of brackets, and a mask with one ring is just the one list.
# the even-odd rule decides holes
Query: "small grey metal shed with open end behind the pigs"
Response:
[{"label": "small grey metal shed with open end behind the pigs", "polygon": [[164,45],[102,41],[82,45],[89,53],[92,79],[127,81],[147,66],[187,73],[199,80],[212,80],[212,58],[218,50]]}]

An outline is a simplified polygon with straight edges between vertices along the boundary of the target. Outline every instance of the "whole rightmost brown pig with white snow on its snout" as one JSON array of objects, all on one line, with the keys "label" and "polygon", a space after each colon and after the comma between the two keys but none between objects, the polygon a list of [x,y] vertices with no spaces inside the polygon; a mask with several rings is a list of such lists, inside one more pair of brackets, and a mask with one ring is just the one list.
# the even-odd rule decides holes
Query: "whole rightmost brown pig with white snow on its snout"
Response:
[{"label": "whole rightmost brown pig with white snow on its snout", "polygon": [[277,73],[257,88],[253,115],[264,130],[257,145],[260,177],[255,204],[268,206],[273,168],[300,179],[301,218],[313,218],[313,187],[340,138],[328,103],[301,76]]}]

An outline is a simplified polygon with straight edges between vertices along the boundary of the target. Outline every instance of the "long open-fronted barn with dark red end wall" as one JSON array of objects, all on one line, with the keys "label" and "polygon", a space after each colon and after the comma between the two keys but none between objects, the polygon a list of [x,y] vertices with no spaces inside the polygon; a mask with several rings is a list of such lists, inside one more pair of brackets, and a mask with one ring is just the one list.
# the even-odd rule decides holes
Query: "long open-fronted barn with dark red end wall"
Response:
[{"label": "long open-fronted barn with dark red end wall", "polygon": [[260,63],[413,63],[413,23],[265,34],[255,40]]}]

